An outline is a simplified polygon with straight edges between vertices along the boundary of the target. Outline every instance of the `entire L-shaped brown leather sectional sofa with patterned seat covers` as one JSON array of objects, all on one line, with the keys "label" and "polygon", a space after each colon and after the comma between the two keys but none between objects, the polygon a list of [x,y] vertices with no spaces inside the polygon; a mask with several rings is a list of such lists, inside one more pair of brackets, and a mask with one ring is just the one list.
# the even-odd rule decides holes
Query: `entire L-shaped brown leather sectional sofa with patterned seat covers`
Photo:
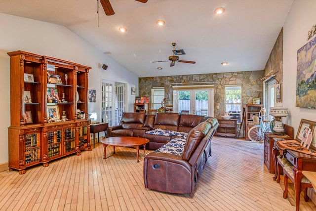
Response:
[{"label": "entire L-shaped brown leather sectional sofa with patterned seat covers", "polygon": [[[134,115],[135,119],[132,118]],[[149,148],[157,150],[144,158],[145,187],[185,194],[192,193],[196,187],[199,175],[211,156],[211,139],[218,126],[217,119],[212,117],[124,113],[121,125],[109,127],[107,137],[127,135],[148,138]],[[146,131],[151,129],[173,130],[187,135],[147,134]]]}]

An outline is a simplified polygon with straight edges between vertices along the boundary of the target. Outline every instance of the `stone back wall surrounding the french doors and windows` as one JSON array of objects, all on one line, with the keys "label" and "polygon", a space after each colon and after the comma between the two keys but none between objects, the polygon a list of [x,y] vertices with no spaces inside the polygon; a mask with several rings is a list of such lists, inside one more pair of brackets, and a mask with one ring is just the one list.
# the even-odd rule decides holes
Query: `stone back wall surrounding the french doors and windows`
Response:
[{"label": "stone back wall surrounding the french doors and windows", "polygon": [[[264,71],[245,71],[231,73],[214,73],[184,76],[163,76],[146,77],[138,79],[139,96],[149,96],[151,101],[151,88],[164,87],[164,95],[167,104],[172,105],[172,85],[173,83],[183,83],[183,85],[198,85],[199,82],[214,83],[214,116],[224,115],[224,98],[226,84],[242,84],[242,104],[252,104],[252,99],[260,97],[263,99],[262,78]],[[195,82],[197,84],[186,84]],[[178,84],[177,84],[178,85]],[[218,109],[219,108],[219,109]]]}]

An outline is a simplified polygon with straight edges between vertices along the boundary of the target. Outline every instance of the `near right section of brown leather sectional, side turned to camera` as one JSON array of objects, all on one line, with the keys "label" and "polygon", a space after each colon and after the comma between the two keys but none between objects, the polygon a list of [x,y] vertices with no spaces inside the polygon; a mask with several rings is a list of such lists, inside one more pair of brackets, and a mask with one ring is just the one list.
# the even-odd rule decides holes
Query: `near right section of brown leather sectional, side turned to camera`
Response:
[{"label": "near right section of brown leather sectional, side turned to camera", "polygon": [[[218,123],[212,125],[214,122],[208,119],[190,130],[183,152],[169,154],[166,149],[163,153],[157,152],[158,149],[147,154],[144,158],[145,188],[167,193],[192,193],[211,155],[211,139],[218,127]],[[177,146],[172,144],[172,147]]]}]

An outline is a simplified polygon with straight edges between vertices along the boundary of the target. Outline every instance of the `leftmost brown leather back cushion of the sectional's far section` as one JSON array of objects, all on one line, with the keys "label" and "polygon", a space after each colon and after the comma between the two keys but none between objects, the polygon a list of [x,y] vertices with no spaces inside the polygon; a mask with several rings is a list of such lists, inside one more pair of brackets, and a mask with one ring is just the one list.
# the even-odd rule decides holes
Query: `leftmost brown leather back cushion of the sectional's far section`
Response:
[{"label": "leftmost brown leather back cushion of the sectional's far section", "polygon": [[145,113],[123,113],[120,123],[123,129],[136,129],[143,127],[145,118]]}]

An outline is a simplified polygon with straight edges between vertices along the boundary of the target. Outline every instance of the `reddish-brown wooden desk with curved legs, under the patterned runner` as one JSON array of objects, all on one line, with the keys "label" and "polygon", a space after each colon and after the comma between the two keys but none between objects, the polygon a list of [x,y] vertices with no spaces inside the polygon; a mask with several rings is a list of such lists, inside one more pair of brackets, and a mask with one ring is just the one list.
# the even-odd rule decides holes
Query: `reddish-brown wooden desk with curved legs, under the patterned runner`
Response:
[{"label": "reddish-brown wooden desk with curved legs, under the patterned runner", "polygon": [[[277,163],[276,156],[278,155],[278,151],[279,150],[276,145],[274,148],[275,164]],[[304,170],[316,171],[316,156],[299,153],[292,150],[285,150],[284,157],[293,165],[296,211],[299,211],[300,193],[302,191],[301,190],[301,179],[303,177],[302,171]],[[276,171],[277,171],[277,165],[276,165]],[[276,176],[274,178],[276,178]]]}]

